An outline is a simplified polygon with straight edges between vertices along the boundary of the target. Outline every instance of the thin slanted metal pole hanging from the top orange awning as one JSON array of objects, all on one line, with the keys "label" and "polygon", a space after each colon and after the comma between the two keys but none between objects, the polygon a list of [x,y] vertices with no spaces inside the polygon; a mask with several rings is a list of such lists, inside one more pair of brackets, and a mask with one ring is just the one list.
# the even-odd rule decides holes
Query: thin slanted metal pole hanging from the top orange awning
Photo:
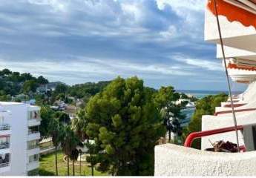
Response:
[{"label": "thin slanted metal pole hanging from the top orange awning", "polygon": [[237,137],[237,151],[240,152],[239,140],[238,140],[238,131],[237,131],[237,118],[236,118],[235,113],[234,113],[234,102],[233,102],[233,99],[232,99],[232,90],[231,90],[230,81],[229,81],[229,73],[228,73],[228,69],[227,69],[227,66],[226,66],[226,56],[225,56],[225,52],[224,52],[223,39],[222,39],[222,35],[221,35],[221,30],[220,30],[220,21],[219,21],[219,16],[218,16],[218,12],[217,12],[217,2],[216,2],[216,0],[214,0],[214,9],[215,9],[215,13],[216,13],[217,28],[218,28],[218,32],[219,32],[219,36],[220,36],[220,44],[221,44],[221,50],[222,50],[222,55],[223,55],[223,60],[224,60],[226,79],[227,79],[227,82],[228,82],[228,85],[229,85],[229,96],[230,96],[230,101],[231,101],[231,106],[232,106],[232,114],[233,114],[233,120],[234,120],[234,130],[235,130],[235,134],[236,134],[236,137]]}]

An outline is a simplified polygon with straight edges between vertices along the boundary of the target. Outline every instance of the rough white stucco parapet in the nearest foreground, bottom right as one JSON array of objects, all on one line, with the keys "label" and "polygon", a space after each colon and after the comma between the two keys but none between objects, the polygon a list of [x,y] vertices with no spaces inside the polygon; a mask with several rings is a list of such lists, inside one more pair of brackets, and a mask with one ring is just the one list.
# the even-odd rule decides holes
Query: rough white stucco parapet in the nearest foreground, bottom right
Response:
[{"label": "rough white stucco parapet in the nearest foreground, bottom right", "polygon": [[155,147],[155,176],[255,176],[256,151],[214,153],[165,144]]}]

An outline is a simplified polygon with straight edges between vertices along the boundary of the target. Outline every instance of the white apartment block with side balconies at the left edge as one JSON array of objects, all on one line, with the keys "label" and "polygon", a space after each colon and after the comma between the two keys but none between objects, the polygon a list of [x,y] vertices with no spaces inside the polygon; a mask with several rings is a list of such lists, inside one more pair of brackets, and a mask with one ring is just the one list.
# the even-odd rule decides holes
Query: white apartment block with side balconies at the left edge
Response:
[{"label": "white apartment block with side balconies at the left edge", "polygon": [[0,102],[0,176],[37,174],[39,109],[18,102]]}]

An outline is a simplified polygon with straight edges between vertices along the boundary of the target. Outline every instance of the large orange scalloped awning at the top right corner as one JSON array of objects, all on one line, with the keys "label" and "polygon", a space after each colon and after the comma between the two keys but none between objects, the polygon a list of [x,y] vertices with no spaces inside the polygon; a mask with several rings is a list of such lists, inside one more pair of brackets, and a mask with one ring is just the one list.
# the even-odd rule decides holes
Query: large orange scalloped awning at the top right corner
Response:
[{"label": "large orange scalloped awning at the top right corner", "polygon": [[[216,0],[219,15],[226,16],[229,22],[240,22],[246,27],[256,28],[256,0]],[[207,7],[215,14],[214,0]]]}]

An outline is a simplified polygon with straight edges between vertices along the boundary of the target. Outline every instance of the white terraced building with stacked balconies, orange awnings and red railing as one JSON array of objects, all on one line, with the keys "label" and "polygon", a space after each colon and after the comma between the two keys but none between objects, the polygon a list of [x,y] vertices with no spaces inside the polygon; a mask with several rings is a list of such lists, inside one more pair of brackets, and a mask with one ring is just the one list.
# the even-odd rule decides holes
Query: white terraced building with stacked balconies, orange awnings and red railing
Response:
[{"label": "white terraced building with stacked balconies, orange awnings and red railing", "polygon": [[[215,2],[217,13],[214,0],[206,1],[205,40],[217,45],[217,59],[223,60],[218,15],[229,77],[248,85],[239,96],[232,96],[240,153],[205,151],[212,148],[209,140],[237,143],[232,104],[228,99],[215,108],[214,116],[203,116],[202,131],[191,133],[185,146],[156,146],[156,176],[256,175],[256,0]],[[202,140],[201,150],[189,148],[197,138]]]}]

